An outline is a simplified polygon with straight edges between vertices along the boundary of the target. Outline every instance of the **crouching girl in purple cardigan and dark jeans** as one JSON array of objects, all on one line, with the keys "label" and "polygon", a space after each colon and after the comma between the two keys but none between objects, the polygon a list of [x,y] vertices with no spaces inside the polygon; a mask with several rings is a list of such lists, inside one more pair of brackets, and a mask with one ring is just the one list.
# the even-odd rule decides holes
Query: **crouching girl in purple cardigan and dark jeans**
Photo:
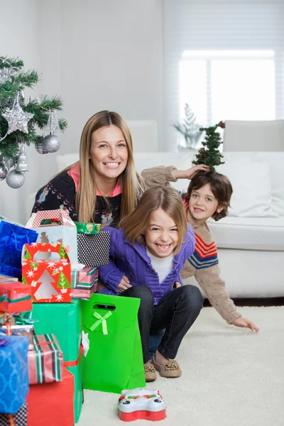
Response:
[{"label": "crouching girl in purple cardigan and dark jeans", "polygon": [[[138,323],[146,381],[155,380],[155,369],[160,376],[179,377],[182,372],[174,359],[203,303],[197,287],[182,286],[180,271],[195,247],[182,200],[173,188],[151,188],[122,219],[120,229],[107,230],[117,266],[99,268],[106,286],[100,293],[141,299]],[[162,329],[165,334],[151,364],[149,334]]]}]

